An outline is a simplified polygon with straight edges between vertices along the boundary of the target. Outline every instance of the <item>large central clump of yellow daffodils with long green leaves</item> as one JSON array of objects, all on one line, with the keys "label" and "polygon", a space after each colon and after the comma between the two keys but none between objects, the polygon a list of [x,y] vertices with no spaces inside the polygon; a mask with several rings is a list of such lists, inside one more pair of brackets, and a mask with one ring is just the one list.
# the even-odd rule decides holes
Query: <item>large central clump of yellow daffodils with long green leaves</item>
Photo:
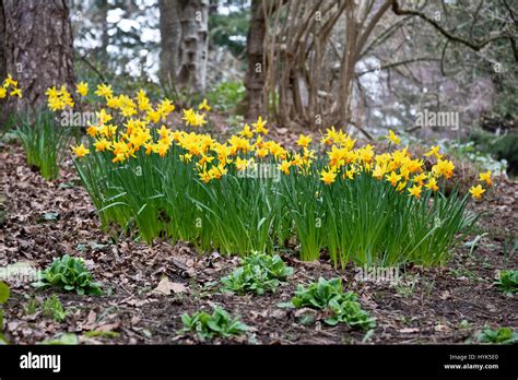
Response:
[{"label": "large central clump of yellow daffodils with long green leaves", "polygon": [[[87,84],[75,92],[89,95]],[[67,100],[61,88],[49,94],[59,106]],[[464,214],[470,194],[442,191],[456,168],[439,146],[413,155],[393,131],[384,151],[334,127],[286,147],[259,117],[217,140],[204,128],[207,99],[180,110],[172,128],[168,99],[116,94],[107,84],[91,96],[101,104],[87,141],[72,146],[75,166],[102,224],[134,223],[144,241],[166,236],[248,254],[295,237],[303,260],[323,249],[342,268],[436,265],[475,221]],[[471,195],[480,199],[491,183],[482,173]]]}]

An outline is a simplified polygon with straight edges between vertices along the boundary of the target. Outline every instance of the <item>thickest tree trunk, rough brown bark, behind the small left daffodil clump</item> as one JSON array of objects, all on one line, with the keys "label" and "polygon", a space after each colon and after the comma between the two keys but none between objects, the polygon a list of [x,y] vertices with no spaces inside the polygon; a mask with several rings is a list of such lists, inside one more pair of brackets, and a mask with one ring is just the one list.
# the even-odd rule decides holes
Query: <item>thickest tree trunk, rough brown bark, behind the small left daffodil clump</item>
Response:
[{"label": "thickest tree trunk, rough brown bark, behind the small left daffodil clump", "polygon": [[2,2],[4,70],[19,81],[23,92],[21,99],[9,97],[8,110],[45,105],[45,91],[52,85],[64,84],[73,92],[73,39],[67,1]]}]

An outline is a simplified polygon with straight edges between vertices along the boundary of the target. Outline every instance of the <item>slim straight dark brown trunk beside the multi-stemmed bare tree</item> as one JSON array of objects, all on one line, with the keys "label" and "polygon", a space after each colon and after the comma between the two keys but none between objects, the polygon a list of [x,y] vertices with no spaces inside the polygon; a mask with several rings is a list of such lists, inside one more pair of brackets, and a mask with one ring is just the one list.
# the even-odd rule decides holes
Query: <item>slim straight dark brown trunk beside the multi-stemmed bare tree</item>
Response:
[{"label": "slim straight dark brown trunk beside the multi-stemmed bare tree", "polygon": [[245,79],[246,117],[257,119],[264,111],[264,13],[262,0],[252,0],[250,25],[247,35],[248,69]]}]

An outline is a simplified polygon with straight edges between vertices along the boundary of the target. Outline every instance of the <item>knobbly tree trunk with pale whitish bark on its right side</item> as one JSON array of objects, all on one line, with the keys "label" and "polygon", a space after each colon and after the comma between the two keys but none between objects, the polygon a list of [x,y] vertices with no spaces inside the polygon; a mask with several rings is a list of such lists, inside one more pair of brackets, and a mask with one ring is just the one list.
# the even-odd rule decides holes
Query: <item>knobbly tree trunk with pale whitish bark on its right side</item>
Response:
[{"label": "knobbly tree trunk with pale whitish bark on its right side", "polygon": [[160,0],[161,80],[204,94],[209,8],[203,0]]}]

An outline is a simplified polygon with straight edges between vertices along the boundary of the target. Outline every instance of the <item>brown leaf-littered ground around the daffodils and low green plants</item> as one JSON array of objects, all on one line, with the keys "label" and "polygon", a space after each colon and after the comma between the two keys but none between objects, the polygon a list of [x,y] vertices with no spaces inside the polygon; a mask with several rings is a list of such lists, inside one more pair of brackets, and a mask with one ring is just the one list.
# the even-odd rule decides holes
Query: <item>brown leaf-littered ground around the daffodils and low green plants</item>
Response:
[{"label": "brown leaf-littered ground around the daffodils and low green plants", "polygon": [[[12,343],[34,344],[70,332],[86,344],[192,344],[198,343],[196,335],[177,334],[181,314],[210,311],[213,305],[240,314],[254,328],[244,337],[214,343],[469,343],[484,325],[518,328],[516,296],[507,297],[493,285],[497,270],[518,266],[516,182],[501,181],[476,205],[486,211],[476,234],[486,235],[473,249],[460,245],[444,268],[410,265],[401,270],[402,281],[391,285],[356,281],[352,266],[334,270],[326,260],[301,262],[285,252],[282,258],[294,268],[294,275],[275,294],[259,297],[222,294],[214,286],[238,265],[237,257],[200,254],[188,244],[148,246],[102,231],[72,163],[63,166],[60,178],[48,182],[26,166],[19,146],[0,147],[0,193],[7,211],[0,226],[0,266],[25,262],[44,269],[64,253],[82,257],[94,277],[104,283],[105,295],[59,293],[69,311],[59,323],[39,309],[26,310],[31,299],[42,301],[51,289],[36,290],[28,283],[11,285],[4,333]],[[340,276],[345,289],[360,295],[364,309],[377,319],[373,334],[328,326],[320,323],[325,318],[320,312],[278,306],[291,299],[297,284],[320,276]],[[156,290],[164,277],[170,282],[169,295]],[[89,331],[116,334],[87,337]]]}]

